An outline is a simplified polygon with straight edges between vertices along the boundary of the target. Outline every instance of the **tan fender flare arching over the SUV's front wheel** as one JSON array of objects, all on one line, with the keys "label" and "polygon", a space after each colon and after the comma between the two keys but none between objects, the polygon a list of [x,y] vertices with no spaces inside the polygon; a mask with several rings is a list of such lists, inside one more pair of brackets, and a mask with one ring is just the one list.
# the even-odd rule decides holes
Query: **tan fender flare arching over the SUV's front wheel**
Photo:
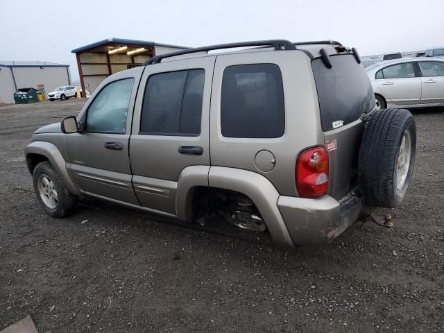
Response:
[{"label": "tan fender flare arching over the SUV's front wheel", "polygon": [[49,162],[51,162],[53,168],[56,169],[58,175],[62,179],[62,182],[67,187],[68,191],[76,196],[80,195],[80,191],[77,189],[76,185],[74,185],[74,182],[72,182],[71,178],[69,178],[69,174],[66,168],[66,162],[55,145],[51,144],[50,142],[35,141],[26,146],[26,164],[28,164],[28,169],[32,173],[32,170],[30,169],[30,154],[42,155],[46,157]]}]

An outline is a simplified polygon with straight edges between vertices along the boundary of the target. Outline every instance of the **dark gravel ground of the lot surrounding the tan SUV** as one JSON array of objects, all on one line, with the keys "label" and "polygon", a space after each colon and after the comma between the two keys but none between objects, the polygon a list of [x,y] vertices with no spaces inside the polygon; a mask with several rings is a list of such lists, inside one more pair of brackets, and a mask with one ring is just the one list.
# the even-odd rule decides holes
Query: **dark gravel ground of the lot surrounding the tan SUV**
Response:
[{"label": "dark gravel ground of the lot surrounding the tan SUV", "polygon": [[69,219],[43,214],[24,147],[82,105],[0,108],[0,330],[31,314],[39,332],[444,331],[443,110],[414,113],[407,199],[377,210],[394,228],[282,250],[92,199]]}]

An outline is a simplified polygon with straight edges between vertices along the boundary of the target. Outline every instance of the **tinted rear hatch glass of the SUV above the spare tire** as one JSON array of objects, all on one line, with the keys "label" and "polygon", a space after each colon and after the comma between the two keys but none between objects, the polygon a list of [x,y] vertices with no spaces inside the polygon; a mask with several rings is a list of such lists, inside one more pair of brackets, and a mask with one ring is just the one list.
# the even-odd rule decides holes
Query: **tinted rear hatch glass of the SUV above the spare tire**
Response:
[{"label": "tinted rear hatch glass of the SUV above the spare tire", "polygon": [[347,125],[375,106],[370,80],[354,56],[330,56],[330,62],[330,69],[321,58],[311,62],[325,131]]}]

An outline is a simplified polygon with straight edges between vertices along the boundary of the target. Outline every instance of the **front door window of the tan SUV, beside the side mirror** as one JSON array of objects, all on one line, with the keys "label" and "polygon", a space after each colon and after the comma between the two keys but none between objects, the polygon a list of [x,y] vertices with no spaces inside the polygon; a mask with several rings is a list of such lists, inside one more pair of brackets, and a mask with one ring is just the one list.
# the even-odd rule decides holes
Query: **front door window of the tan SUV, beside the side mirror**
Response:
[{"label": "front door window of the tan SUV, beside the side mirror", "polygon": [[85,130],[124,134],[133,85],[134,78],[125,78],[105,86],[89,105]]}]

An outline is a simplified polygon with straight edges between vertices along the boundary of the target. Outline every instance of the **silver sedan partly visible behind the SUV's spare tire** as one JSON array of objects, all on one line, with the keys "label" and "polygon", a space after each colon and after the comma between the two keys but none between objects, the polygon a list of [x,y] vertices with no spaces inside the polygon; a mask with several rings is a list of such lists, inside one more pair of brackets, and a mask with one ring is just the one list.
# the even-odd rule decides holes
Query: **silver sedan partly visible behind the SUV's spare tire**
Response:
[{"label": "silver sedan partly visible behind the SUV's spare tire", "polygon": [[366,71],[380,108],[444,106],[444,59],[387,60]]}]

